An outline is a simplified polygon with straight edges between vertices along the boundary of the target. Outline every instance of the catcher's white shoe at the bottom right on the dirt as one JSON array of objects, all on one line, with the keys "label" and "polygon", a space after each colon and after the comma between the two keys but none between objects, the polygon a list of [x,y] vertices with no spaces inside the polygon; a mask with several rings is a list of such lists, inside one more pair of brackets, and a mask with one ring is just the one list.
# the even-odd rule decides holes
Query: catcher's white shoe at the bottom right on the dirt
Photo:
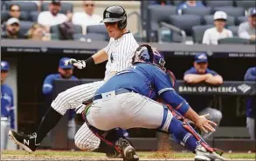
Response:
[{"label": "catcher's white shoe at the bottom right on the dirt", "polygon": [[196,148],[195,161],[214,161],[214,160],[225,160],[225,158],[218,155],[216,152],[207,151],[204,146],[199,144]]}]

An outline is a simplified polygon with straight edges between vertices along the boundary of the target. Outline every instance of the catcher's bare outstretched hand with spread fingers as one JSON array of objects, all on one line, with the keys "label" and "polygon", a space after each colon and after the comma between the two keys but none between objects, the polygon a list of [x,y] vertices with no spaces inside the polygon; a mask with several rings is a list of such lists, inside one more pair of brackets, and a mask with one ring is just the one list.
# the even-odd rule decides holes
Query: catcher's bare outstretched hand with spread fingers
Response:
[{"label": "catcher's bare outstretched hand with spread fingers", "polygon": [[199,116],[197,121],[195,122],[196,126],[206,133],[215,131],[214,127],[217,124],[213,123],[211,120],[208,120],[206,117],[209,117],[210,114],[207,113],[205,115]]}]

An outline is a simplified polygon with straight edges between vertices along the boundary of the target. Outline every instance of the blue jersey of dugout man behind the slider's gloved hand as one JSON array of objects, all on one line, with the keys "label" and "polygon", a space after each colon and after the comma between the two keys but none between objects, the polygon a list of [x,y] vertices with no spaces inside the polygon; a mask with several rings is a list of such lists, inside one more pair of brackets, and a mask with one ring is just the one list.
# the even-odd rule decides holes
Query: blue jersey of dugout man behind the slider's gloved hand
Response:
[{"label": "blue jersey of dugout man behind the slider's gloved hand", "polygon": [[[43,84],[43,93],[44,94],[49,94],[52,92],[52,84],[53,84],[53,81],[54,80],[57,80],[57,79],[63,79],[60,74],[50,74],[48,75],[47,77],[45,77],[45,81],[44,81],[44,84]],[[70,80],[78,80],[77,77],[70,77],[69,78]]]}]

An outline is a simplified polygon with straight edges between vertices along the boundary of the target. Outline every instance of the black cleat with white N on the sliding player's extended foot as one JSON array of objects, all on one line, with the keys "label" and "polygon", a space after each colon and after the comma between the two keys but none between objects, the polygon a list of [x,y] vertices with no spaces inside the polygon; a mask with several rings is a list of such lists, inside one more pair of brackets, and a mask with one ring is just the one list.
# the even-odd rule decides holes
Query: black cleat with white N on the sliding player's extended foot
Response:
[{"label": "black cleat with white N on the sliding player's extended foot", "polygon": [[19,134],[16,131],[8,132],[11,139],[18,145],[20,145],[24,151],[32,152],[36,151],[38,148],[37,142],[37,133],[32,133],[30,135]]}]

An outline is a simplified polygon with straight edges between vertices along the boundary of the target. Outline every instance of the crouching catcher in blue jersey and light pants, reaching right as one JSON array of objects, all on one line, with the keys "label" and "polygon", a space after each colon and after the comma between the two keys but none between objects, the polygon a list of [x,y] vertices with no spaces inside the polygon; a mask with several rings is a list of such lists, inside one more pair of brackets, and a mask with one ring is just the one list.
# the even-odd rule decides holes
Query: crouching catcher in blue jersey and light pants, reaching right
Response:
[{"label": "crouching catcher in blue jersey and light pants, reaching right", "polygon": [[[94,133],[101,138],[102,131],[117,127],[157,129],[170,133],[179,144],[195,152],[196,161],[225,160],[218,155],[219,150],[211,148],[186,122],[184,117],[202,131],[215,131],[212,127],[216,126],[215,123],[198,116],[183,97],[176,94],[173,89],[175,81],[166,73],[162,55],[148,44],[143,44],[135,51],[133,64],[96,91],[93,104],[86,113],[86,123]],[[169,105],[150,98],[161,98]],[[119,147],[115,149],[120,151]],[[129,150],[128,160],[135,160],[135,149],[130,147]]]}]

